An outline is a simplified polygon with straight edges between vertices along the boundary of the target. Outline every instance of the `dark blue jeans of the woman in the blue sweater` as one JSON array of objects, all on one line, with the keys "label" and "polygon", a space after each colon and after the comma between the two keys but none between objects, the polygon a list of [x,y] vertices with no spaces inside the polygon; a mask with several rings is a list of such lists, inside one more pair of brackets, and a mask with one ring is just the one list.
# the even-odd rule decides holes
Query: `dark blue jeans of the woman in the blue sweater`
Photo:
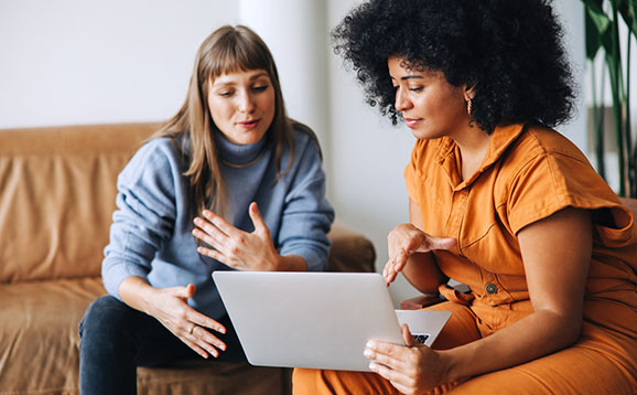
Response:
[{"label": "dark blue jeans of the woman in the blue sweater", "polygon": [[[226,343],[216,360],[246,361],[228,317],[219,321]],[[79,388],[82,394],[136,394],[137,366],[158,366],[182,360],[203,360],[156,319],[111,296],[95,300],[79,323]]]}]

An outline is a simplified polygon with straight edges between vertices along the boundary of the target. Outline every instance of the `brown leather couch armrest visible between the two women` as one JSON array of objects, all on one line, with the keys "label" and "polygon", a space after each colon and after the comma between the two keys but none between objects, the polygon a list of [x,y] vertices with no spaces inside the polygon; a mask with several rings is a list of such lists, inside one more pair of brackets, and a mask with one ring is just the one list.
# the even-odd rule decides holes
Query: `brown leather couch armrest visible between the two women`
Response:
[{"label": "brown leather couch armrest visible between the two women", "polygon": [[376,249],[369,238],[338,220],[327,236],[332,241],[327,271],[376,271]]}]

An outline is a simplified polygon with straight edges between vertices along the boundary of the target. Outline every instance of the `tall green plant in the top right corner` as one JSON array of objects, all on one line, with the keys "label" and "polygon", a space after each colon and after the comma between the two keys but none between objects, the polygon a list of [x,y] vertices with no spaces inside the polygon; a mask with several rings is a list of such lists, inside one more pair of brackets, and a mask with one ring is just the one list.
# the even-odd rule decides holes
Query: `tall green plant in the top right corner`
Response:
[{"label": "tall green plant in the top right corner", "polygon": [[[597,171],[604,167],[604,95],[606,75],[611,85],[613,134],[617,146],[620,196],[637,198],[636,147],[630,128],[630,47],[637,38],[637,0],[582,0],[585,8],[586,58],[591,66],[593,127]],[[624,47],[623,47],[624,46]],[[602,67],[595,60],[603,56]],[[597,85],[601,84],[601,89]]]}]

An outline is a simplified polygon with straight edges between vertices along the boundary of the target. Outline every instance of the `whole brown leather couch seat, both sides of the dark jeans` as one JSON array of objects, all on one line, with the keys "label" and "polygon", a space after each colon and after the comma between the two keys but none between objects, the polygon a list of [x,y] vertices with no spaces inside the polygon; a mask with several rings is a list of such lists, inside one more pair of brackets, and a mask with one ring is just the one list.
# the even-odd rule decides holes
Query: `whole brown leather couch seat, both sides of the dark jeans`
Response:
[{"label": "whole brown leather couch seat, both sides of the dark jeans", "polygon": [[[79,321],[105,293],[98,277],[0,285],[0,395],[79,394]],[[290,372],[206,361],[140,367],[138,393],[289,394]]]}]

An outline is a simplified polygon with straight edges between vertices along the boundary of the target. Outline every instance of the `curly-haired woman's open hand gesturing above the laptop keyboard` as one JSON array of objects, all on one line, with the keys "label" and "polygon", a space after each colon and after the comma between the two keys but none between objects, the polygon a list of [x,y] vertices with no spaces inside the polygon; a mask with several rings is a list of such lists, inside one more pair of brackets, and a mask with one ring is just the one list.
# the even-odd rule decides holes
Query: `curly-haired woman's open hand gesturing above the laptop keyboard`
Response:
[{"label": "curly-haired woman's open hand gesturing above the laptop keyboard", "polygon": [[412,224],[400,224],[387,236],[389,260],[382,269],[385,281],[389,285],[404,268],[413,253],[429,253],[433,249],[451,249],[455,247],[455,238],[433,237]]}]

